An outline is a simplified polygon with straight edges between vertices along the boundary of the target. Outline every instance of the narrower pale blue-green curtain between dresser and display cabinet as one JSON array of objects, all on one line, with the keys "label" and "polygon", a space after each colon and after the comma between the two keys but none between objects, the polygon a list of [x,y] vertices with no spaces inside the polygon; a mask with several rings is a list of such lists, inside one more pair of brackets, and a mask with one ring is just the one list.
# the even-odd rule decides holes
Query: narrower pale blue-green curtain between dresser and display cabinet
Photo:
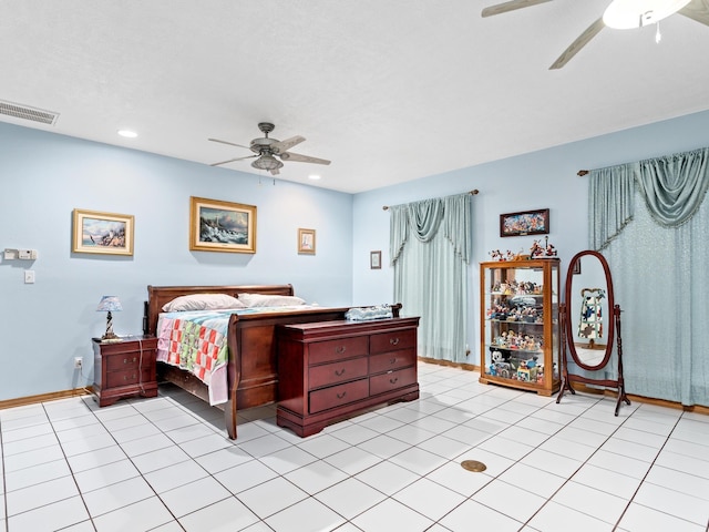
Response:
[{"label": "narrower pale blue-green curtain between dresser and display cabinet", "polygon": [[419,356],[464,362],[471,195],[390,207],[394,300],[420,316]]}]

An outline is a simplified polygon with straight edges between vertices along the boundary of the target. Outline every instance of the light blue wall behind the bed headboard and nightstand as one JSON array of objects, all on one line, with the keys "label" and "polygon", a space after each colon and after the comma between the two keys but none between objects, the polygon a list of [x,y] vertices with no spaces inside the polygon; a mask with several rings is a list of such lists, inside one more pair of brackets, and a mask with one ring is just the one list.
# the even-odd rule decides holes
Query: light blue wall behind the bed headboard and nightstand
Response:
[{"label": "light blue wall behind the bed headboard and nightstand", "polygon": [[[0,400],[91,383],[95,308],[121,298],[117,334],[140,334],[146,286],[291,283],[320,305],[352,299],[352,195],[0,123]],[[189,252],[189,196],[256,205],[257,253]],[[72,254],[72,211],[135,216],[132,257]],[[298,227],[317,254],[298,255]],[[33,269],[34,285],[23,283]],[[84,375],[73,358],[84,357]]]}]

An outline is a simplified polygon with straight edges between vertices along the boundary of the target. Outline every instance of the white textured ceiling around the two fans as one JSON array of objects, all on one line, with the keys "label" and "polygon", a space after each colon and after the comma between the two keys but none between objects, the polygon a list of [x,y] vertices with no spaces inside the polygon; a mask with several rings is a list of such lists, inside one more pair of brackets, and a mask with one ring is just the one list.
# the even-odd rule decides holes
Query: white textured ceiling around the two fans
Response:
[{"label": "white textured ceiling around the two fans", "polygon": [[608,0],[493,3],[0,0],[0,100],[60,113],[0,120],[204,164],[269,121],[332,161],[278,178],[356,193],[709,109],[709,27],[606,28],[549,71]]}]

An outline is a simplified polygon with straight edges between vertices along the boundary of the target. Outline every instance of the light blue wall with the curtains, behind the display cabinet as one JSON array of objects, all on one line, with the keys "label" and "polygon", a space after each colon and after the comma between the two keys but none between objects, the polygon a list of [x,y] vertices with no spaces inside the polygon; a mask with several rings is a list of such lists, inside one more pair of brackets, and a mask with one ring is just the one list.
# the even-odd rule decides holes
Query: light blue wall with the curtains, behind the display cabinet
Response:
[{"label": "light blue wall with the curtains, behind the display cabinet", "polygon": [[[354,196],[353,304],[393,298],[389,265],[389,218],[383,205],[398,205],[477,188],[473,196],[473,256],[470,267],[472,348],[469,364],[480,364],[479,263],[492,249],[528,250],[534,237],[500,237],[500,214],[549,208],[549,243],[565,273],[569,259],[588,246],[587,178],[579,170],[602,168],[709,146],[709,112],[635,127],[516,157],[379,188]],[[444,154],[441,154],[444,156]],[[653,243],[648,242],[648,246]],[[382,269],[369,269],[370,250],[382,250]],[[562,283],[564,279],[562,278]],[[405,313],[405,308],[404,308]]]}]

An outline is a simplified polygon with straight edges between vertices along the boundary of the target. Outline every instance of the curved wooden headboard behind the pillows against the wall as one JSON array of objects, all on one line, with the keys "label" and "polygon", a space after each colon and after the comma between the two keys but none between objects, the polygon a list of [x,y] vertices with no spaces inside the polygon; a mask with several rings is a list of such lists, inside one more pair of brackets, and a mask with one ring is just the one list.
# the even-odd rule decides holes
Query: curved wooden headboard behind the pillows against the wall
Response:
[{"label": "curved wooden headboard behind the pillows against the wall", "polygon": [[292,296],[292,285],[227,285],[227,286],[147,286],[147,301],[143,316],[143,334],[155,335],[157,315],[163,311],[163,305],[176,297],[191,294],[228,294],[238,297],[239,294],[268,294],[274,296]]}]

